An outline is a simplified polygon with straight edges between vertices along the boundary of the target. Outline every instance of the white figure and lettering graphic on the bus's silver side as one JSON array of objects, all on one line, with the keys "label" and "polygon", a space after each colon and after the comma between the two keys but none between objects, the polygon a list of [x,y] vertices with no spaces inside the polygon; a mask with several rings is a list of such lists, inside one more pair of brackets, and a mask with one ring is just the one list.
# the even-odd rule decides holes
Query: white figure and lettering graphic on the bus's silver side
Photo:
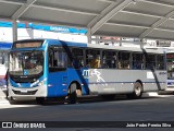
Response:
[{"label": "white figure and lettering graphic on the bus's silver side", "polygon": [[97,78],[96,82],[103,85],[103,86],[108,86],[108,84],[105,83],[105,81],[100,76],[101,72],[99,72],[97,69],[94,70],[84,70],[83,71],[83,76],[85,79],[91,79],[91,78]]}]

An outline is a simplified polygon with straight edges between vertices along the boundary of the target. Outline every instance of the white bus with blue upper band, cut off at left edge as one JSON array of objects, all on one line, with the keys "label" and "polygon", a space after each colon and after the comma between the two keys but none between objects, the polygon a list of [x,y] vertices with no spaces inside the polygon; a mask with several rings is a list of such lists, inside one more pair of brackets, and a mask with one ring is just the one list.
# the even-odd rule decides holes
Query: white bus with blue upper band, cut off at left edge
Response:
[{"label": "white bus with blue upper band, cut off at left edge", "polygon": [[9,64],[9,51],[11,49],[12,43],[0,41],[0,86],[5,87],[5,74]]}]

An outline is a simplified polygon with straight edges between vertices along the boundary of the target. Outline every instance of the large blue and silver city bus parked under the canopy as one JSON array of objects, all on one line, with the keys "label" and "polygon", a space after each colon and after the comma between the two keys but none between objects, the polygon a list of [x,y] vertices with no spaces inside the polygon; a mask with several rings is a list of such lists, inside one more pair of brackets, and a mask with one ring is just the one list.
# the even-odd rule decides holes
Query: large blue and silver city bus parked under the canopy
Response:
[{"label": "large blue and silver city bus parked under the canopy", "polygon": [[9,64],[9,98],[78,96],[114,98],[166,88],[162,50],[94,45],[57,39],[26,39],[13,44]]}]

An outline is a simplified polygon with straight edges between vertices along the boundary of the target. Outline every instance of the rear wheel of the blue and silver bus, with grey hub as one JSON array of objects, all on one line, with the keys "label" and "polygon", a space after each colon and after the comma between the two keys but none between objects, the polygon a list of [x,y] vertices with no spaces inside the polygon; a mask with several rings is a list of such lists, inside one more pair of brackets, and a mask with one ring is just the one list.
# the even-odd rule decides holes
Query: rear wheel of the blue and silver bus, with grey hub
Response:
[{"label": "rear wheel of the blue and silver bus, with grey hub", "polygon": [[142,95],[142,85],[139,82],[134,84],[134,92],[132,94],[127,94],[128,98],[140,98]]}]

